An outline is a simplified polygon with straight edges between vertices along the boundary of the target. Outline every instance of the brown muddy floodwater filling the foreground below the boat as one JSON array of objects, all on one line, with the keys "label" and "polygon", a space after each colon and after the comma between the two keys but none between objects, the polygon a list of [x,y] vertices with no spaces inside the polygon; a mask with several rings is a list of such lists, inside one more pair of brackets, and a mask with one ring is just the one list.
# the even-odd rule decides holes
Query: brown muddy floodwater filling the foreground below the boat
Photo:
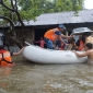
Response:
[{"label": "brown muddy floodwater filling the foreground below the boat", "polygon": [[93,66],[38,65],[13,57],[13,67],[0,67],[0,93],[93,93]]}]

